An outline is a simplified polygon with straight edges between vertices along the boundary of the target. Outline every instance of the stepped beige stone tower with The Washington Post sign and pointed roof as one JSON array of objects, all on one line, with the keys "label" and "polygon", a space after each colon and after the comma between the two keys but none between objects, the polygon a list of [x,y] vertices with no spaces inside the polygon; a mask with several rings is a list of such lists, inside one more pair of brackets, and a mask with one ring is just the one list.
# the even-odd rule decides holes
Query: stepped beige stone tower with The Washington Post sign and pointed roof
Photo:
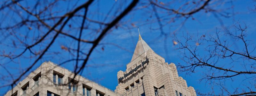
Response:
[{"label": "stepped beige stone tower with The Washington Post sign and pointed roof", "polygon": [[193,87],[178,75],[175,64],[168,64],[142,39],[136,44],[125,71],[117,72],[115,92],[122,96],[196,96]]}]

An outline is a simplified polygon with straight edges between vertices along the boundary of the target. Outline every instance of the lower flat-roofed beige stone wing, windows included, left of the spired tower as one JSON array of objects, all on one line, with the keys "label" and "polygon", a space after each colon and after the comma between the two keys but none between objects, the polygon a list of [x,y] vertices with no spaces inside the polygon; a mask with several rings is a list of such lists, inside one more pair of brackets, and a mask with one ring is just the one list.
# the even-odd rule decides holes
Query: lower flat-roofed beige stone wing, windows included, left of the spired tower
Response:
[{"label": "lower flat-roofed beige stone wing, windows included, left of the spired tower", "polygon": [[85,77],[73,77],[72,71],[51,61],[44,62],[4,96],[87,96],[87,92],[91,96],[120,96]]}]

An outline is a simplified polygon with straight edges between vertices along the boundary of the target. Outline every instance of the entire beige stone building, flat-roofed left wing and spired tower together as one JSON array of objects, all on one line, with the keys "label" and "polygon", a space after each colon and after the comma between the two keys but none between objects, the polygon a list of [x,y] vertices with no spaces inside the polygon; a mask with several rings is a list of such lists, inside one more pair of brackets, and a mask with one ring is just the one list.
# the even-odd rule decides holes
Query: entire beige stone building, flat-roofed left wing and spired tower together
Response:
[{"label": "entire beige stone building, flat-roofed left wing and spired tower together", "polygon": [[139,35],[131,62],[117,72],[115,92],[66,68],[44,62],[4,96],[196,96],[193,87],[178,76]]}]

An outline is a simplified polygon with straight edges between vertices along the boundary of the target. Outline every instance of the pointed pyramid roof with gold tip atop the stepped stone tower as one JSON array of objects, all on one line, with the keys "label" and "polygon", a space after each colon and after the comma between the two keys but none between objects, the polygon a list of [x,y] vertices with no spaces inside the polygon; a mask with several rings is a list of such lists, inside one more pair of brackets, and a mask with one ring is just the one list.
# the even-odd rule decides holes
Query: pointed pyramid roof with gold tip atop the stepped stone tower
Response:
[{"label": "pointed pyramid roof with gold tip atop the stepped stone tower", "polygon": [[[133,52],[132,55],[132,60],[136,59],[137,57],[139,57],[141,54],[143,54],[144,52],[147,52],[148,50],[152,50],[148,44],[142,39],[142,37],[140,36],[140,31],[139,31],[139,41],[137,42],[137,45],[135,47],[135,50]],[[153,51],[153,50],[152,50]],[[131,60],[131,61],[132,61]]]}]

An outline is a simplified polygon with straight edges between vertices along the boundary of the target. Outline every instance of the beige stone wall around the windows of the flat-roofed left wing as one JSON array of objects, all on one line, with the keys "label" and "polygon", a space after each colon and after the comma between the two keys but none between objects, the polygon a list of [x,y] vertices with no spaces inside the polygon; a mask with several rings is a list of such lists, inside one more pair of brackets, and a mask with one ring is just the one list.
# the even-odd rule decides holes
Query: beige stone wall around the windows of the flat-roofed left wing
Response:
[{"label": "beige stone wall around the windows of the flat-roofed left wing", "polygon": [[[56,84],[53,82],[54,72],[63,76],[63,84]],[[35,86],[35,81],[33,78],[38,74],[41,74],[41,78],[39,79],[39,83]],[[78,81],[77,91],[70,91],[68,88],[68,79],[73,77],[74,73],[70,70],[60,67],[50,61],[44,62],[40,67],[38,67],[34,72],[31,72],[24,80],[18,83],[4,96],[12,96],[14,94],[17,94],[17,96],[34,96],[38,92],[39,96],[46,96],[47,91],[59,96],[83,96],[83,86],[91,89],[91,96],[96,96],[96,91],[104,94],[104,96],[120,96],[108,88],[105,88],[79,75],[74,78],[75,81]],[[22,87],[26,84],[29,84],[29,86],[26,93],[23,94]]]}]

